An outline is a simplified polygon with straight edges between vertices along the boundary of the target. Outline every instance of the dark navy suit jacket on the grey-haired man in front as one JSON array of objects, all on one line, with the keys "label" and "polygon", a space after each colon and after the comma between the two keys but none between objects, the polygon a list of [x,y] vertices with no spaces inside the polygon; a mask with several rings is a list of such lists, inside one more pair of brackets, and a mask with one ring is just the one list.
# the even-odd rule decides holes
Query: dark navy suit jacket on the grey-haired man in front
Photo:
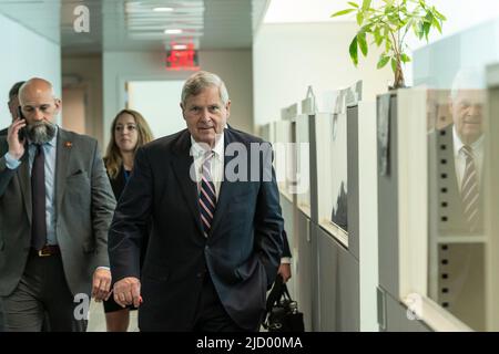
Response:
[{"label": "dark navy suit jacket on the grey-haired man in front", "polygon": [[[225,148],[230,143],[241,143],[248,152],[251,143],[262,143],[230,129],[224,131],[224,139]],[[191,135],[184,129],[138,150],[134,173],[109,235],[113,280],[139,278],[140,240],[152,217],[141,279],[141,331],[192,329],[206,271],[228,315],[241,327],[254,330],[282,253],[283,218],[274,171],[272,181],[262,181],[262,169],[256,171],[257,181],[225,179],[205,238],[197,186],[190,177],[190,148]],[[261,155],[269,158],[272,150]],[[225,166],[231,162],[234,164],[235,158],[225,156]]]}]

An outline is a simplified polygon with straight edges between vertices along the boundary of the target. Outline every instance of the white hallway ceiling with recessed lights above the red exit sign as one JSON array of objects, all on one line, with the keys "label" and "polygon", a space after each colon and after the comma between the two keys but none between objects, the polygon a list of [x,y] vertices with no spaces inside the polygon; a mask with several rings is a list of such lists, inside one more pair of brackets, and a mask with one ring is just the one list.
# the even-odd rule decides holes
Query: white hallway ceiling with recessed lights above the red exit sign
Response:
[{"label": "white hallway ceiling with recessed lights above the red exit sign", "polygon": [[[129,31],[126,3],[140,8],[134,13],[134,31]],[[61,43],[64,53],[102,51],[163,50],[171,41],[192,39],[203,50],[248,49],[255,25],[269,0],[0,0],[0,12],[27,28]],[[90,32],[77,33],[73,13],[85,6]],[[154,7],[183,9],[170,13],[153,12]],[[149,13],[146,9],[149,8]],[[140,28],[138,23],[140,22]],[[128,25],[129,23],[129,25]],[[167,35],[166,28],[183,27],[185,33]]]}]

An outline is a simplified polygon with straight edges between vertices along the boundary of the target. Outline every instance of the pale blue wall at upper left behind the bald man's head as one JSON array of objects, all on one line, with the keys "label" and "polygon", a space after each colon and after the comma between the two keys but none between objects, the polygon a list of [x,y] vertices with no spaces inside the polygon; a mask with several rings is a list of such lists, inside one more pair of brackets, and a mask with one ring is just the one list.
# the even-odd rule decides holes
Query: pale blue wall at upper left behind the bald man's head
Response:
[{"label": "pale blue wall at upper left behind the bald man's head", "polygon": [[49,80],[61,96],[61,49],[0,13],[0,127],[10,124],[7,107],[10,87],[33,76]]}]

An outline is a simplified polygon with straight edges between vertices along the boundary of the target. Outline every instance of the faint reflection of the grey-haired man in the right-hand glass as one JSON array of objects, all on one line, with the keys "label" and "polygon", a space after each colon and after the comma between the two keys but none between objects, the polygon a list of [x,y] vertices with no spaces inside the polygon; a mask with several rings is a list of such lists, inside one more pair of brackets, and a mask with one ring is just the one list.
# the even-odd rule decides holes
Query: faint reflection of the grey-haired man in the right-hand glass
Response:
[{"label": "faint reflection of the grey-haired man in the right-hand glass", "polygon": [[[437,215],[445,217],[439,220],[442,235],[477,235],[482,231],[483,102],[485,92],[481,90],[452,91],[449,110],[454,124],[432,137],[438,157],[435,177],[442,208]],[[464,199],[467,196],[462,191],[475,195],[475,202]]]}]

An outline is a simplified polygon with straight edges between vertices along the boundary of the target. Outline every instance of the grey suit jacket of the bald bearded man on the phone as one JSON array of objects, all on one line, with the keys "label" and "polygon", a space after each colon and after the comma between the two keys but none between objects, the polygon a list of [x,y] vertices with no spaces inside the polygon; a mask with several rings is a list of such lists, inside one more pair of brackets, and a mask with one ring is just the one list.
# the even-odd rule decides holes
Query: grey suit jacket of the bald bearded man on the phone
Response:
[{"label": "grey suit jacket of the bald bearded man on the phone", "polygon": [[[28,149],[21,165],[6,166],[0,138],[0,295],[9,295],[24,271],[31,243],[31,183]],[[90,294],[96,267],[109,266],[108,230],[115,207],[95,139],[58,131],[55,236],[68,285]]]}]

